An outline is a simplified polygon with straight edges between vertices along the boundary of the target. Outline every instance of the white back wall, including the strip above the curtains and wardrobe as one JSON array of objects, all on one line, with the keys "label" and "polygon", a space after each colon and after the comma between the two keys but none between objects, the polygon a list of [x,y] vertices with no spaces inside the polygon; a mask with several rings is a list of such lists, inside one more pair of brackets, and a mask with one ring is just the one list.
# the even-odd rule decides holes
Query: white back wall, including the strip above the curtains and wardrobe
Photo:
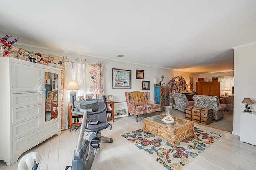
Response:
[{"label": "white back wall, including the strip above the curtains and wardrobe", "polygon": [[[76,59],[86,59],[92,60],[92,61],[105,61],[106,64],[104,65],[104,94],[106,95],[113,95],[113,101],[114,102],[124,102],[125,94],[124,92],[132,92],[132,91],[149,91],[150,92],[150,99],[153,100],[154,98],[154,78],[157,78],[157,81],[162,81],[161,76],[164,75],[163,82],[166,82],[166,84],[175,76],[183,76],[186,82],[188,83],[189,77],[195,76],[195,74],[187,73],[187,72],[180,72],[176,70],[168,70],[164,68],[157,68],[157,67],[151,67],[151,66],[145,66],[140,64],[133,64],[133,63],[124,63],[121,61],[114,61],[114,60],[107,60],[102,58],[96,58],[96,57],[90,57],[90,56],[84,56],[80,54],[74,54],[74,53],[68,53],[63,51],[57,51],[55,49],[42,49],[40,47],[34,47],[34,46],[27,46],[22,44],[15,44],[16,47],[21,47],[25,49],[26,51],[34,52],[34,53],[41,53],[44,56],[50,55],[50,56],[68,56],[71,58]],[[122,58],[120,58],[122,60]],[[92,62],[95,63],[95,62]],[[112,68],[118,68],[118,69],[124,69],[124,70],[131,70],[131,89],[112,89]],[[136,70],[144,70],[144,79],[136,79]],[[194,85],[196,84],[197,78],[194,78]],[[142,81],[150,81],[150,90],[142,90]],[[194,86],[194,90],[196,90]]]}]

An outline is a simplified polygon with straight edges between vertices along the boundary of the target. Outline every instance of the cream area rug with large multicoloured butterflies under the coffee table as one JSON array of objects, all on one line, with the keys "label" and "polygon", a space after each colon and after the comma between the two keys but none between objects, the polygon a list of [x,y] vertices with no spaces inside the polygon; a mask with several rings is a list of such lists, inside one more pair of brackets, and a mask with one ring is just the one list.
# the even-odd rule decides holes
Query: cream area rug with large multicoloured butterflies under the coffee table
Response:
[{"label": "cream area rug with large multicoloured butterflies under the coffee table", "polygon": [[175,147],[151,133],[143,133],[143,129],[126,133],[122,137],[150,154],[168,170],[181,170],[221,135],[195,127],[194,136],[180,141]]}]

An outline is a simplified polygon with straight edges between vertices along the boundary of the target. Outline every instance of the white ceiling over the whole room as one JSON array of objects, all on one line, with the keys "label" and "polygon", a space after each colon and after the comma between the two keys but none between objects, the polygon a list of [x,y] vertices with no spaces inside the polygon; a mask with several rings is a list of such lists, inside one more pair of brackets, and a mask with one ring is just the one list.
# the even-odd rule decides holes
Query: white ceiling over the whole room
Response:
[{"label": "white ceiling over the whole room", "polygon": [[256,42],[256,0],[5,0],[0,32],[91,57],[223,72],[232,47]]}]

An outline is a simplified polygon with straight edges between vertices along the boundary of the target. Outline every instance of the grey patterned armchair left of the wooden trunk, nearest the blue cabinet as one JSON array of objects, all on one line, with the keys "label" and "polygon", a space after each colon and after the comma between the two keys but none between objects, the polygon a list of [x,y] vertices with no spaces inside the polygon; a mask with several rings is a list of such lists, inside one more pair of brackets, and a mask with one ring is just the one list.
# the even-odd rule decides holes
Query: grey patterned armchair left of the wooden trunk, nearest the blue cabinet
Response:
[{"label": "grey patterned armchair left of the wooden trunk, nearest the blue cabinet", "polygon": [[173,93],[172,96],[174,97],[175,102],[173,108],[185,113],[186,107],[189,105],[188,98],[186,97],[186,95],[182,93]]}]

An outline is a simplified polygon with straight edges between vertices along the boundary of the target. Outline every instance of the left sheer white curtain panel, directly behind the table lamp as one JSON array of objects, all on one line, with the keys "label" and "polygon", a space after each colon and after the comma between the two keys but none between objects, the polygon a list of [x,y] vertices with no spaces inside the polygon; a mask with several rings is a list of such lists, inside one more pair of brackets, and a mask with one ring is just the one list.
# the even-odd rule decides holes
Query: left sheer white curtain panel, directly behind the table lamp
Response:
[{"label": "left sheer white curtain panel, directly behind the table lamp", "polygon": [[76,81],[80,86],[79,90],[75,90],[76,100],[78,100],[78,96],[85,96],[87,91],[85,74],[86,64],[84,61],[72,61],[71,59],[65,61],[62,130],[68,129],[68,104],[70,103],[70,91],[72,91],[66,90],[65,87],[70,81]]}]

